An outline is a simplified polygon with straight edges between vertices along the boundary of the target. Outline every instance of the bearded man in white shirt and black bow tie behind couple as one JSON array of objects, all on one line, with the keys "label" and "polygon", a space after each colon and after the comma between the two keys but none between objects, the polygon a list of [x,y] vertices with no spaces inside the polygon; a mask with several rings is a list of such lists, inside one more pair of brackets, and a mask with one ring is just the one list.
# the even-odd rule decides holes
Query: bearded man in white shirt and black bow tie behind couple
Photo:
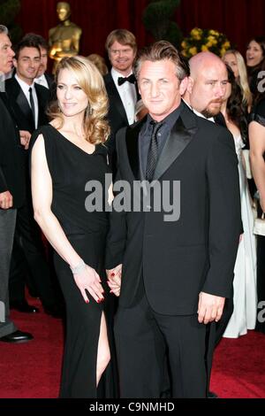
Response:
[{"label": "bearded man in white shirt and black bow tie behind couple", "polygon": [[111,128],[110,139],[106,144],[110,149],[112,166],[116,171],[115,136],[120,128],[134,123],[135,104],[139,97],[133,75],[137,44],[131,32],[117,29],[110,32],[105,47],[112,65],[110,73],[104,76],[110,101],[108,119]]}]

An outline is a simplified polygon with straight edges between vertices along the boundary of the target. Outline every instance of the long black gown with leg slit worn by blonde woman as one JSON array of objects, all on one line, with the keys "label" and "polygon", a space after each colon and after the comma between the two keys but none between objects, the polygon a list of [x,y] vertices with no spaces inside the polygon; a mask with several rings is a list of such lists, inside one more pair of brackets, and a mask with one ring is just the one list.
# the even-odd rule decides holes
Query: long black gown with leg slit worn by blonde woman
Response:
[{"label": "long black gown with leg slit worn by blonde woman", "polygon": [[[85,187],[88,181],[98,181],[102,184],[104,203],[105,174],[110,173],[107,150],[104,145],[99,144],[95,146],[93,154],[88,154],[51,125],[41,127],[34,133],[31,148],[40,134],[44,138],[52,178],[52,212],[59,220],[74,250],[87,265],[95,268],[104,286],[106,279],[103,261],[108,213],[104,211],[104,204],[101,211],[87,212],[85,202],[88,192]],[[105,313],[104,306],[108,300],[103,304],[97,304],[87,293],[90,302],[86,304],[69,265],[56,252],[55,267],[66,305],[66,339],[60,397],[97,397],[98,339],[102,313]],[[109,290],[106,286],[104,289],[105,297],[108,297]],[[110,372],[110,366],[105,372],[107,374],[104,374],[104,380],[111,384],[108,371]],[[105,397],[112,397],[113,386],[110,384],[101,388]]]}]

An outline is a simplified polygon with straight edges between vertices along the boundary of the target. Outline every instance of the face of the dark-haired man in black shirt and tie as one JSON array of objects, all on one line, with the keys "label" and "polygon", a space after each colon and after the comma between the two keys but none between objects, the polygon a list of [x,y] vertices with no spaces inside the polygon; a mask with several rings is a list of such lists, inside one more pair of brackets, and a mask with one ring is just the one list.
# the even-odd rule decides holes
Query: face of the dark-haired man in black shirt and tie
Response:
[{"label": "face of the dark-haired man in black shirt and tie", "polygon": [[186,89],[186,79],[179,82],[176,65],[168,59],[144,61],[140,66],[138,86],[151,117],[161,121],[178,108]]}]

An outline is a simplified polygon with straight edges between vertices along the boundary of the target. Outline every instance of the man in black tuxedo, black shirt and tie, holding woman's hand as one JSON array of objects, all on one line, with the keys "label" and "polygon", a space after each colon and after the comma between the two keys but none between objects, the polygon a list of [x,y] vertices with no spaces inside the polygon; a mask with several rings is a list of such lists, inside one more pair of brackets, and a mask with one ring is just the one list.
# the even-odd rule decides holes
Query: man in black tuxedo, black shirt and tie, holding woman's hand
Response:
[{"label": "man in black tuxedo, black shirt and tie, holding woman's hand", "polygon": [[134,73],[149,113],[117,134],[127,191],[123,211],[121,195],[112,204],[106,256],[117,295],[122,273],[121,397],[160,397],[165,354],[171,396],[206,397],[206,326],[222,317],[239,243],[238,159],[231,134],[181,101],[188,67],[169,42],[142,50]]}]

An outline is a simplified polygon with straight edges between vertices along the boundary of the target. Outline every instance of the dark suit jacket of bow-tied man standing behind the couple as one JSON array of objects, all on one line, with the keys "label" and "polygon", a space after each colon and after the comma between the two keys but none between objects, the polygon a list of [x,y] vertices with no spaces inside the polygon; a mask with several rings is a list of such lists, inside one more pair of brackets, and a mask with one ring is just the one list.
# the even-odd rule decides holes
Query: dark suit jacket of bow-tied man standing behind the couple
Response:
[{"label": "dark suit jacket of bow-tied man standing behind the couple", "polygon": [[[122,127],[129,126],[129,122],[127,119],[127,115],[125,112],[124,104],[121,100],[121,97],[118,94],[117,87],[111,73],[107,73],[104,76],[105,87],[107,90],[107,94],[109,97],[109,112],[108,112],[108,120],[110,123],[110,138],[106,145],[110,151],[110,158],[111,163],[113,166],[114,171],[116,172],[116,164],[117,164],[117,155],[116,155],[116,134],[117,131]],[[137,84],[135,82],[135,89],[137,96],[139,98],[139,93],[137,89]]]}]

